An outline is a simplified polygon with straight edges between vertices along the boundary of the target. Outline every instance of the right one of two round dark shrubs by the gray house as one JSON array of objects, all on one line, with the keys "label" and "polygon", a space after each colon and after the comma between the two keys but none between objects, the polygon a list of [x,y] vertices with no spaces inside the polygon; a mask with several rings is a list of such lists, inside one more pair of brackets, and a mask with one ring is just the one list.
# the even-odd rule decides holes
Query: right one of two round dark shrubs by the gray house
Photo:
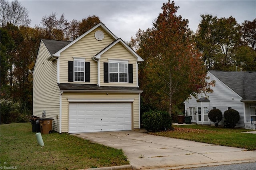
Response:
[{"label": "right one of two round dark shrubs by the gray house", "polygon": [[234,109],[229,109],[224,112],[224,118],[226,120],[226,123],[228,123],[228,125],[231,128],[234,128],[236,126],[236,123],[238,123],[238,121],[240,119],[240,115],[239,115],[238,111],[236,111]]}]

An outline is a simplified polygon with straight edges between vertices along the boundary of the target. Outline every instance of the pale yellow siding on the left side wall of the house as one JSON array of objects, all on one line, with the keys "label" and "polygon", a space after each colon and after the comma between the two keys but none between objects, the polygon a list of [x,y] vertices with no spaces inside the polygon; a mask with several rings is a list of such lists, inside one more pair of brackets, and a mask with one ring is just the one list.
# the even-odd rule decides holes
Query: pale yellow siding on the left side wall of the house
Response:
[{"label": "pale yellow siding on the left side wall of the house", "polygon": [[57,61],[47,61],[50,53],[41,42],[33,72],[33,115],[54,119],[53,129],[59,131],[59,120],[56,115],[60,112],[60,91],[57,85]]}]

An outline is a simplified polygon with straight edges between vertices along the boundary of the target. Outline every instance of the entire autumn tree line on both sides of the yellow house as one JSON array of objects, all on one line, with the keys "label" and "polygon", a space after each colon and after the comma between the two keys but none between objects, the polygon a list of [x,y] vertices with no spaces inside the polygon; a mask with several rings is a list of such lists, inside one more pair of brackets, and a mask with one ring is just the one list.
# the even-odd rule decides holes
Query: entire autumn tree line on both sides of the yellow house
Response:
[{"label": "entire autumn tree line on both sides of the yellow house", "polygon": [[[145,61],[139,66],[142,111],[177,113],[190,94],[212,92],[208,70],[256,71],[256,19],[244,21],[201,15],[194,33],[177,16],[174,2],[164,3],[153,27],[138,30],[128,42]],[[76,39],[100,22],[98,16],[68,22],[46,15],[30,27],[28,10],[18,0],[1,0],[1,123],[23,121],[32,114],[33,69],[40,40]],[[236,67],[237,66],[237,67]],[[11,107],[12,106],[12,107]]]}]

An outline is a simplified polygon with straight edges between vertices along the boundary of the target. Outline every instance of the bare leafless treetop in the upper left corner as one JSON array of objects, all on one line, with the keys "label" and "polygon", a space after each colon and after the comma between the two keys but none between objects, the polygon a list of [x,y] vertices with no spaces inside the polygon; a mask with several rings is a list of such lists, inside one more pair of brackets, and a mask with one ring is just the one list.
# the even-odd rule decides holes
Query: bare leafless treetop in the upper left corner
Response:
[{"label": "bare leafless treetop in the upper left corner", "polygon": [[28,10],[23,7],[18,0],[10,2],[1,0],[0,4],[0,24],[1,27],[10,23],[14,26],[28,26],[30,19],[28,18]]}]

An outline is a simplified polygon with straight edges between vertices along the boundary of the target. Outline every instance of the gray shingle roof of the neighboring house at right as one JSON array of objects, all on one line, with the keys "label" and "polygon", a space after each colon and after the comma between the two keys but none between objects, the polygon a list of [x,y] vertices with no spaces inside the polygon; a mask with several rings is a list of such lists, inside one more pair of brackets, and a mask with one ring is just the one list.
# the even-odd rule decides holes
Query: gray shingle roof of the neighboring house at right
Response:
[{"label": "gray shingle roof of the neighboring house at right", "polygon": [[256,71],[209,71],[230,89],[240,95],[242,101],[256,100]]}]

